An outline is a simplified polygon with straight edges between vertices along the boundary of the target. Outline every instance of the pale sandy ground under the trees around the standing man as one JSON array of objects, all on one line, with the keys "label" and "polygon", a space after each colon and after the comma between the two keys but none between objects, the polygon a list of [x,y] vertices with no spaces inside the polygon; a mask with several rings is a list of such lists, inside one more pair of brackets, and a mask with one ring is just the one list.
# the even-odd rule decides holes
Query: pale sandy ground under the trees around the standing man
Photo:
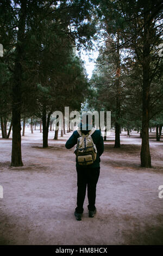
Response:
[{"label": "pale sandy ground under the trees around the standing man", "polygon": [[163,141],[151,133],[152,168],[140,167],[141,139],[136,132],[121,135],[114,149],[108,135],[101,157],[94,218],[87,198],[82,221],[74,218],[77,173],[70,134],[42,147],[39,129],[22,137],[23,167],[10,167],[11,139],[0,139],[1,245],[163,245]]}]

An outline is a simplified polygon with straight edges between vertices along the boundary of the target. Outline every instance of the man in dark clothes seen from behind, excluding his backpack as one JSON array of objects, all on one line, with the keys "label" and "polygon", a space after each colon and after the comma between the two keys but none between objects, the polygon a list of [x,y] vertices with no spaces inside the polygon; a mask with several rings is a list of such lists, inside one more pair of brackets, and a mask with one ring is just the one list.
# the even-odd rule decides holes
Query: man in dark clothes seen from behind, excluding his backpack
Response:
[{"label": "man in dark clothes seen from behind, excluding his backpack", "polygon": [[[86,117],[86,118],[85,118]],[[84,121],[86,120],[86,122]],[[92,115],[89,113],[85,113],[82,117],[82,123],[80,124],[80,131],[86,135],[92,129]],[[74,131],[72,136],[68,139],[65,144],[67,149],[71,149],[78,142],[79,137],[78,131]],[[76,158],[76,169],[77,169],[77,208],[74,212],[76,219],[78,221],[82,220],[83,214],[83,204],[86,194],[86,186],[87,186],[87,198],[89,200],[89,205],[87,208],[89,210],[89,217],[94,217],[96,214],[96,185],[99,178],[100,172],[100,156],[104,151],[104,142],[102,133],[100,130],[95,130],[92,135],[93,143],[96,145],[97,156],[96,160],[87,166],[81,166]]]}]

